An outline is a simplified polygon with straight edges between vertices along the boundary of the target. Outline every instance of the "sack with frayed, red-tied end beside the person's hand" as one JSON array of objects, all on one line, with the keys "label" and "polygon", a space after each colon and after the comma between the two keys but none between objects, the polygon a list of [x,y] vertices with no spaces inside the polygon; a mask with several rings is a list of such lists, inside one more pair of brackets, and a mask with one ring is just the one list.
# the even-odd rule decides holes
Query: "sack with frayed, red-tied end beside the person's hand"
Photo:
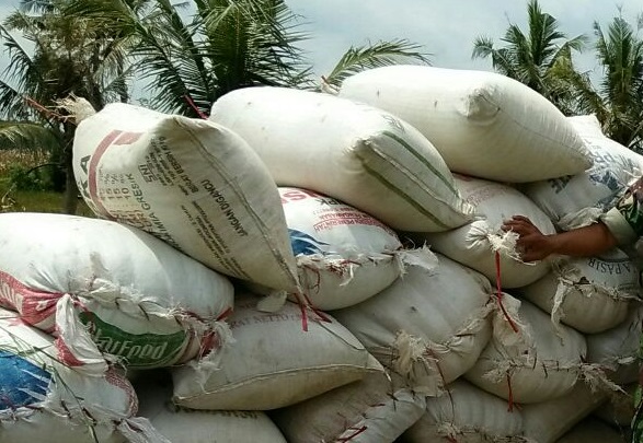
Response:
[{"label": "sack with frayed, red-tied end beside the person's hand", "polygon": [[[417,235],[432,249],[475,269],[503,288],[520,288],[546,276],[550,260],[523,263],[516,252],[517,234],[503,232],[503,222],[514,214],[528,217],[544,234],[553,234],[551,220],[527,196],[496,182],[456,175],[462,197],[475,208],[478,220],[441,233]],[[496,265],[496,253],[500,269]]]}]

